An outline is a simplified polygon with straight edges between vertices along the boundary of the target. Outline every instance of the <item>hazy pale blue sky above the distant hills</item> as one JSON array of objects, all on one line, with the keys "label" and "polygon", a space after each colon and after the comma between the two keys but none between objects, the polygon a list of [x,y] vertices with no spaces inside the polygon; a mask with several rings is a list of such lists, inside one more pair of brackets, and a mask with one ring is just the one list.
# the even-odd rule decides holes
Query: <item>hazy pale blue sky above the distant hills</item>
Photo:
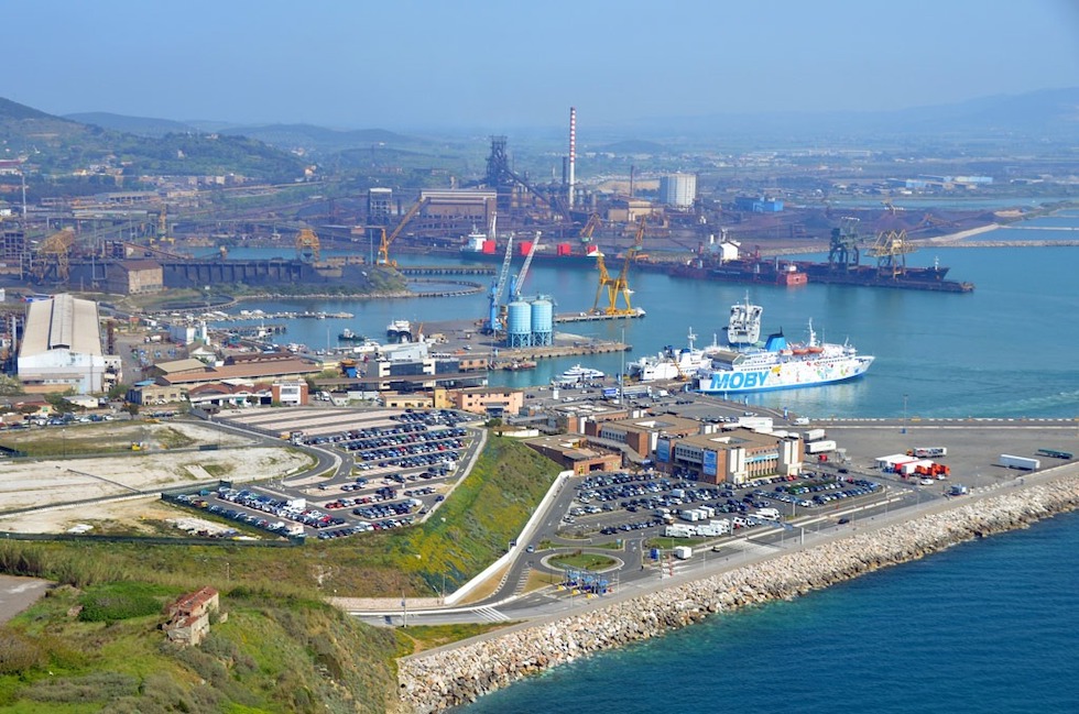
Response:
[{"label": "hazy pale blue sky above the distant hills", "polygon": [[1079,85],[1079,0],[33,0],[0,96],[390,130],[878,110]]}]

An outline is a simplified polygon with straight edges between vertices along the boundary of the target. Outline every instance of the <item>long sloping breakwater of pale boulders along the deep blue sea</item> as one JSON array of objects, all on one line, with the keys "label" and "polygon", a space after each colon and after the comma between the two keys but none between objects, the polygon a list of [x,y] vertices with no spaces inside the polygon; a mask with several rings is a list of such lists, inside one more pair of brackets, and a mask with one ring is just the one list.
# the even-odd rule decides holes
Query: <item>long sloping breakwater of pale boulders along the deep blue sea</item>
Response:
[{"label": "long sloping breakwater of pale boulders along the deep blue sea", "polygon": [[710,578],[531,624],[400,662],[402,707],[439,712],[551,667],[661,636],[723,612],[789,600],[952,545],[1079,508],[1079,476],[998,490],[945,510],[777,556]]}]

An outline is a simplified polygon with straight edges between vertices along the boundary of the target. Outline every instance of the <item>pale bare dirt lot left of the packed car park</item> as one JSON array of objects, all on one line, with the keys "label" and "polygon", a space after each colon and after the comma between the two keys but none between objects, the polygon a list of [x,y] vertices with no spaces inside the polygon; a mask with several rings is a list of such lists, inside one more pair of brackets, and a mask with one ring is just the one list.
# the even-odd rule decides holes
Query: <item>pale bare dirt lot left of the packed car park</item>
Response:
[{"label": "pale bare dirt lot left of the packed car park", "polygon": [[[86,425],[97,427],[99,425]],[[303,471],[310,459],[302,452],[221,433],[198,424],[110,422],[111,438],[143,441],[145,450],[123,454],[0,461],[0,530],[17,532],[61,532],[83,525],[115,521],[138,525],[187,517],[155,496],[139,492],[195,484],[214,479],[237,482],[283,477]],[[50,429],[54,429],[50,435]],[[55,428],[31,432],[26,438],[56,438]],[[65,427],[70,433],[79,427]],[[131,433],[124,433],[124,430]],[[219,450],[168,450],[156,444],[154,432],[179,432],[199,443],[218,444]],[[87,432],[84,432],[87,433]],[[133,436],[132,436],[133,435]],[[135,438],[148,435],[143,438]],[[131,496],[105,504],[64,505],[88,498]],[[33,508],[31,513],[10,514]]]}]

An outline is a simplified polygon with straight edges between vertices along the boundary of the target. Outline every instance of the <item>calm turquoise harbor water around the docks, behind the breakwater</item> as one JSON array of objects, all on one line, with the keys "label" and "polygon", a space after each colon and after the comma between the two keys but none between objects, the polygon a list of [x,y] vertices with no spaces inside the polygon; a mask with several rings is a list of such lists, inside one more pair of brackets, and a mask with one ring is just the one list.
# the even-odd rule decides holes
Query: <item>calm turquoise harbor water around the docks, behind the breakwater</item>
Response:
[{"label": "calm turquoise harbor water around the docks, behind the breakwater", "polygon": [[[1079,227],[1079,216],[1072,217]],[[1000,229],[994,240],[1075,240],[1071,230]],[[783,330],[788,339],[806,337],[813,319],[819,339],[850,341],[876,358],[860,380],[827,387],[765,392],[743,397],[751,405],[815,417],[1055,417],[1079,416],[1079,249],[964,248],[923,250],[908,256],[912,265],[935,261],[949,276],[974,283],[971,294],[927,293],[841,285],[778,287],[673,278],[657,273],[630,273],[633,305],[643,319],[577,322],[556,326],[562,333],[623,340],[632,344],[625,361],[686,344],[690,328],[698,347],[721,340],[733,303],[749,299],[764,307],[762,334]],[[404,263],[437,262],[401,256]],[[448,262],[448,259],[443,259]],[[520,264],[513,263],[513,270]],[[484,278],[479,278],[484,279]],[[587,266],[556,267],[535,262],[525,295],[552,296],[556,312],[592,307],[596,272]],[[401,299],[333,299],[247,301],[246,309],[351,312],[351,320],[286,320],[280,343],[312,349],[336,345],[344,328],[384,339],[386,323],[414,326],[473,318],[487,314],[487,297]],[[427,330],[430,331],[429,329]],[[574,364],[617,375],[623,355],[543,360],[536,370],[491,375],[494,385],[527,386],[551,381]]]}]

